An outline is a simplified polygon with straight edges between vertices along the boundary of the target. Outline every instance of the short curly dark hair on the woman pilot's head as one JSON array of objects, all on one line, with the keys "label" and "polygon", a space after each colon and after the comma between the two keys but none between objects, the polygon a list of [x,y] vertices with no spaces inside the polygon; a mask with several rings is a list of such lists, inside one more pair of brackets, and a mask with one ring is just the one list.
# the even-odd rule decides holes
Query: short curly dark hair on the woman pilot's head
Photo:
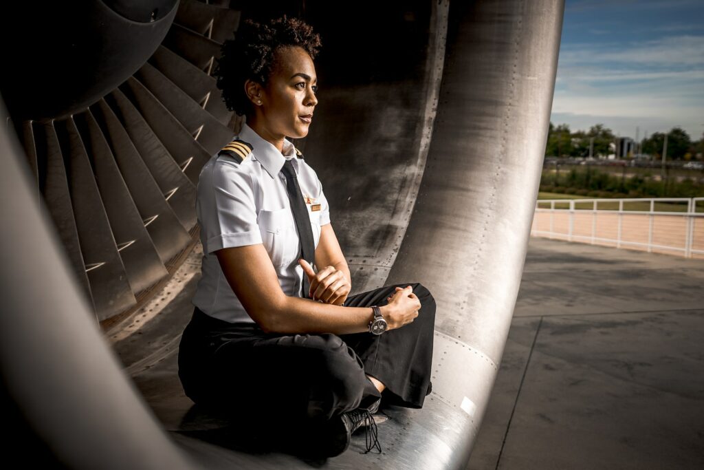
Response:
[{"label": "short curly dark hair on the woman pilot's head", "polygon": [[315,58],[320,36],[303,20],[286,15],[271,20],[268,25],[246,20],[236,37],[222,44],[222,54],[213,72],[227,109],[239,116],[251,111],[244,82],[249,79],[265,86],[275,68],[277,51],[293,46],[302,47],[310,58]]}]

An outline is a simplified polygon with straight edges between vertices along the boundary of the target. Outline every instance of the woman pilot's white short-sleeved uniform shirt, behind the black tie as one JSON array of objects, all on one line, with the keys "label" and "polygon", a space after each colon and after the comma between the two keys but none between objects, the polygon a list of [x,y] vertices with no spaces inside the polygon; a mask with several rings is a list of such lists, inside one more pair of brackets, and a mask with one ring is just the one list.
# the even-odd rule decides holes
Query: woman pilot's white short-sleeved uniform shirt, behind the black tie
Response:
[{"label": "woman pilot's white short-sleeved uniform shirt, behind the black tie", "polygon": [[238,163],[227,154],[216,154],[199,176],[196,214],[201,225],[202,277],[193,304],[206,314],[232,323],[254,323],[234,295],[220,268],[215,251],[262,243],[274,265],[284,294],[301,296],[303,269],[298,265],[301,243],[291,214],[284,161],[291,159],[306,201],[313,239],[318,247],[320,227],[330,223],[329,206],[313,168],[296,157],[284,139],[283,154],[248,125],[236,137],[253,150]]}]

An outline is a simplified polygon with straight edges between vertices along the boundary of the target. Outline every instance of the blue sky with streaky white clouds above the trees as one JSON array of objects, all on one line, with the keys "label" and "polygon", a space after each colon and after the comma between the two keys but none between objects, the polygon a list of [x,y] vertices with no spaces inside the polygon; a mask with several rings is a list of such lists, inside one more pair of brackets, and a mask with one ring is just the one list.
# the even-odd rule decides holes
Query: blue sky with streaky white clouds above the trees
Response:
[{"label": "blue sky with streaky white clouds above the trees", "polygon": [[704,132],[704,0],[566,0],[551,120]]}]

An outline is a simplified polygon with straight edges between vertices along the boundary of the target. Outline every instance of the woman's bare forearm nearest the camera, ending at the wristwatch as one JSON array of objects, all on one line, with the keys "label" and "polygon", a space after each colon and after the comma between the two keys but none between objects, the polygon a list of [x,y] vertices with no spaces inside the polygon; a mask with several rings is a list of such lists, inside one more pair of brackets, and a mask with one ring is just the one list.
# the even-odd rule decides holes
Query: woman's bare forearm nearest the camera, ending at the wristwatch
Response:
[{"label": "woman's bare forearm nearest the camera, ending at the wristwatch", "polygon": [[339,307],[301,297],[284,297],[265,316],[270,333],[363,333],[374,318],[371,307]]}]

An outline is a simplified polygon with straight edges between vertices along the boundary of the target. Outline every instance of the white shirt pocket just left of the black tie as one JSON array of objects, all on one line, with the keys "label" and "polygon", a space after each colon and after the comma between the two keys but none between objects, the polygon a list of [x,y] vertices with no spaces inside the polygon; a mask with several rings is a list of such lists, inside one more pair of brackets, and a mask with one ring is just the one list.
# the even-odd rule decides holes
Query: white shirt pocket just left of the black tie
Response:
[{"label": "white shirt pocket just left of the black tie", "polygon": [[294,221],[291,211],[259,211],[259,231],[263,245],[274,266],[286,266],[298,255],[298,237],[294,233]]}]

